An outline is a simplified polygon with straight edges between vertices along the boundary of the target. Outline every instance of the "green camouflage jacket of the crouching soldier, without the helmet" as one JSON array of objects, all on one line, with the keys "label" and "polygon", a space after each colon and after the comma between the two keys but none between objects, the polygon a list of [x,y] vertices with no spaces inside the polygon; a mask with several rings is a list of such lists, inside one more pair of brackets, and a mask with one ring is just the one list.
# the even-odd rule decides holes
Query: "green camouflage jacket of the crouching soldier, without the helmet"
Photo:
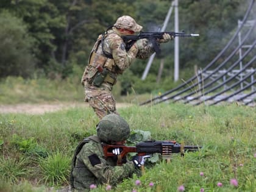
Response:
[{"label": "green camouflage jacket of the crouching soldier, without the helmet", "polygon": [[[105,158],[101,142],[96,136],[89,137],[84,146],[76,155],[76,165],[71,172],[73,185],[76,190],[89,190],[90,185],[108,185],[115,186],[135,172],[135,166],[132,162],[124,163],[122,166],[115,166],[113,158]],[[74,160],[73,159],[73,160]]]}]

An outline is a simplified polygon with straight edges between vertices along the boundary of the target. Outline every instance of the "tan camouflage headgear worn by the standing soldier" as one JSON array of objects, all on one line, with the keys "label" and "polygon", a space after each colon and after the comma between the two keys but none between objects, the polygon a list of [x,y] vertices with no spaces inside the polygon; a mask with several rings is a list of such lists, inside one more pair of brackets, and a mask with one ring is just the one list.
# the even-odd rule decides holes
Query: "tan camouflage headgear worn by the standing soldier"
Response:
[{"label": "tan camouflage headgear worn by the standing soldier", "polygon": [[120,16],[117,20],[114,26],[118,29],[129,29],[134,32],[140,32],[142,29],[142,26],[136,23],[135,20],[131,16],[124,15]]}]

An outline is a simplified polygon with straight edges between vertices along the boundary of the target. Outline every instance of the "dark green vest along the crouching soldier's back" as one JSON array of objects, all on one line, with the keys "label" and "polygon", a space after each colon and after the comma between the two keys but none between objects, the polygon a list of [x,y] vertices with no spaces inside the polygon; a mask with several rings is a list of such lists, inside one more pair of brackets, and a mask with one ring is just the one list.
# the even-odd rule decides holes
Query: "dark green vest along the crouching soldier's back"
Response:
[{"label": "dark green vest along the crouching soldier's back", "polygon": [[[88,138],[85,138],[83,141],[81,141],[78,146],[76,147],[76,151],[74,152],[74,156],[73,156],[73,160],[72,160],[72,164],[71,164],[71,172],[70,172],[70,177],[69,177],[69,182],[70,182],[70,186],[71,186],[71,191],[75,190],[74,187],[74,177],[73,177],[73,170],[74,168],[76,168],[76,163],[77,163],[77,155],[79,154],[79,152],[81,151],[81,149],[83,148],[83,146],[88,143],[89,141],[94,141],[96,143],[101,143],[101,141],[99,140],[98,137],[96,136],[90,136]],[[84,167],[85,165],[83,165],[84,163],[80,162],[80,167]],[[91,175],[93,176],[93,175]]]}]

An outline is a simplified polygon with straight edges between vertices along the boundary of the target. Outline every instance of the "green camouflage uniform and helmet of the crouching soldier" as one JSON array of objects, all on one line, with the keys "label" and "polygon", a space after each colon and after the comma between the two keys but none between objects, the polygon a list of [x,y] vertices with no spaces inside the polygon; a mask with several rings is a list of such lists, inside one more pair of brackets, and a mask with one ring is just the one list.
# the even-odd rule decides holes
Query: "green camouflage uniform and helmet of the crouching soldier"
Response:
[{"label": "green camouflage uniform and helmet of the crouching soldier", "polygon": [[116,166],[118,156],[104,157],[102,142],[124,141],[129,137],[130,128],[119,115],[104,116],[97,126],[97,136],[85,138],[76,148],[71,169],[71,188],[78,191],[90,191],[90,185],[107,183],[113,187],[135,172],[133,162],[122,160],[123,165]]}]

